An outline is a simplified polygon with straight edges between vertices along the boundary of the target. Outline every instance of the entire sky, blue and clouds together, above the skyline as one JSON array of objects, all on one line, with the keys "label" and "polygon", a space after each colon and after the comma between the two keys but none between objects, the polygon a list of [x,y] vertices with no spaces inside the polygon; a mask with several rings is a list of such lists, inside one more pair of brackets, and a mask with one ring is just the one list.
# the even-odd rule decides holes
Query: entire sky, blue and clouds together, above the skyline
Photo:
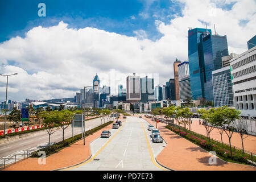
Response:
[{"label": "entire sky, blue and clouds together, above the skyline", "polygon": [[[96,73],[112,94],[132,73],[164,85],[174,61],[188,61],[188,27],[215,24],[240,54],[256,33],[255,10],[256,0],[0,0],[0,74],[18,73],[8,84],[15,101],[73,97]],[[0,101],[5,93],[0,76]]]}]

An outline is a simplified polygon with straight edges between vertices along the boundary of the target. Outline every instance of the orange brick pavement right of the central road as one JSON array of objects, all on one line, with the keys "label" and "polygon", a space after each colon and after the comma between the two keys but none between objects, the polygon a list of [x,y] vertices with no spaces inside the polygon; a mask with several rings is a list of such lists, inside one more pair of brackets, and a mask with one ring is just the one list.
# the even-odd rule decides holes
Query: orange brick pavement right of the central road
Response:
[{"label": "orange brick pavement right of the central road", "polygon": [[[154,121],[143,118],[155,126]],[[216,165],[210,165],[208,151],[166,129],[164,123],[159,122],[157,126],[167,145],[156,159],[165,167],[183,171],[256,171],[256,167],[229,163],[220,158]]]}]

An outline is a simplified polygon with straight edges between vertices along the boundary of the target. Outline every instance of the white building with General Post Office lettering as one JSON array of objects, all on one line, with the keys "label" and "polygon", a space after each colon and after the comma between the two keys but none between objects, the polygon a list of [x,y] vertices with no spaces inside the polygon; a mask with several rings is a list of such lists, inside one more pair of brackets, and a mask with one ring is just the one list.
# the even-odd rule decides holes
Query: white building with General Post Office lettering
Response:
[{"label": "white building with General Post Office lettering", "polygon": [[256,47],[230,60],[234,106],[241,117],[256,119]]}]

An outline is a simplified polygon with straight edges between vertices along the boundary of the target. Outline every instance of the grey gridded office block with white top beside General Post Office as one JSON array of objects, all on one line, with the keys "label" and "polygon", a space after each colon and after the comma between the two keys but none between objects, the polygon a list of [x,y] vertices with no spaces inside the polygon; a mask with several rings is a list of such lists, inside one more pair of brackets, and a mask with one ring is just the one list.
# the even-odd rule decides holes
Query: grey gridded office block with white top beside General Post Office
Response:
[{"label": "grey gridded office block with white top beside General Post Office", "polygon": [[212,71],[214,106],[233,106],[233,86],[230,67]]}]

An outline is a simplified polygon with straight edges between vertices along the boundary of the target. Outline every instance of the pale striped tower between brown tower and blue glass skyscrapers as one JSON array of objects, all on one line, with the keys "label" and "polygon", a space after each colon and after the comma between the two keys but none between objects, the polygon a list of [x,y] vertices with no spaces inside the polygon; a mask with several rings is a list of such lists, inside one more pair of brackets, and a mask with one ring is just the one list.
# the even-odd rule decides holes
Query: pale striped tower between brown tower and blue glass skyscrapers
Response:
[{"label": "pale striped tower between brown tower and blue glass skyscrapers", "polygon": [[184,61],[183,63],[179,64],[178,68],[179,68],[180,100],[184,101],[187,98],[192,100],[188,61]]}]

